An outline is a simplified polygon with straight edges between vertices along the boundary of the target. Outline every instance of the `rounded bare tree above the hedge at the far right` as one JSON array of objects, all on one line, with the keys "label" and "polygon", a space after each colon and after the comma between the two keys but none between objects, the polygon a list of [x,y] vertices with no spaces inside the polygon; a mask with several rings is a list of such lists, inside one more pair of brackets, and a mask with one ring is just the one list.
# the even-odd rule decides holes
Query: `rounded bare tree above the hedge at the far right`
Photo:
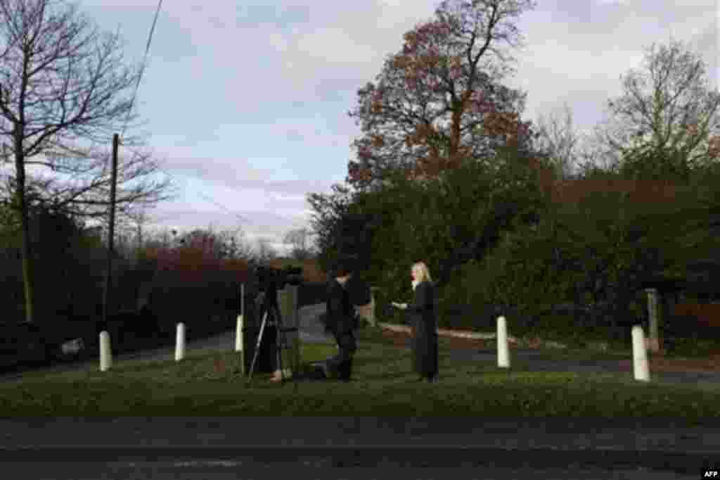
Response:
[{"label": "rounded bare tree above the hedge at the far right", "polygon": [[622,78],[624,94],[608,101],[611,118],[596,128],[603,156],[631,177],[687,180],[720,157],[720,92],[687,45],[671,40],[647,50],[643,68]]}]

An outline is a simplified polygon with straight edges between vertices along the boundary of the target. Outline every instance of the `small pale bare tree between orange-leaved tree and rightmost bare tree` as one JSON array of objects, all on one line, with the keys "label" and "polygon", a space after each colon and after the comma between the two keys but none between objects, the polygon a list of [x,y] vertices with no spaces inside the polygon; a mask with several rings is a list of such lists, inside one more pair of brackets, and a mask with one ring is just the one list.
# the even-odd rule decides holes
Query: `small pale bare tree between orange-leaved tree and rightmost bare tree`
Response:
[{"label": "small pale bare tree between orange-leaved tree and rightmost bare tree", "polygon": [[572,110],[563,107],[564,116],[557,112],[545,117],[540,115],[537,122],[537,139],[539,148],[549,156],[550,163],[560,179],[568,179],[580,164],[580,134],[572,124]]}]

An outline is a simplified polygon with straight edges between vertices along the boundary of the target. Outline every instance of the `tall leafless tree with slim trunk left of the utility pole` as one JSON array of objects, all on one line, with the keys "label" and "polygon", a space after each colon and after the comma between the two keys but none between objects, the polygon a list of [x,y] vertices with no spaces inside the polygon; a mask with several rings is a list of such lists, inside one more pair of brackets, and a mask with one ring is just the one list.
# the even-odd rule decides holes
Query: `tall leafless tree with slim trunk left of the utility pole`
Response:
[{"label": "tall leafless tree with slim trunk left of the utility pole", "polygon": [[[33,321],[35,302],[27,167],[45,166],[53,173],[74,172],[79,177],[100,169],[104,182],[100,176],[82,185],[59,187],[55,179],[36,180],[44,182],[49,195],[73,200],[75,205],[107,205],[103,201],[109,189],[107,155],[96,156],[92,145],[110,145],[123,123],[135,120],[131,97],[138,74],[139,69],[127,66],[122,58],[120,36],[100,32],[76,4],[0,0],[0,144],[4,159],[14,165],[12,196],[21,214],[27,321]],[[95,159],[91,167],[89,159]],[[120,178],[127,179],[122,174]],[[125,204],[142,199],[143,195],[131,195]]]}]

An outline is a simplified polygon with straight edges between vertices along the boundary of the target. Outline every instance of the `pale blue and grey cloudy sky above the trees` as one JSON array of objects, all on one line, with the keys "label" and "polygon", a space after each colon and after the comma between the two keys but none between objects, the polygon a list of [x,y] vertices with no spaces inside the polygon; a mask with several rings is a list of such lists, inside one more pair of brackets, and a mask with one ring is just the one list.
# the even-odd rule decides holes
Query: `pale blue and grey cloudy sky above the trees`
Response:
[{"label": "pale blue and grey cloudy sky above the trees", "polygon": [[[309,228],[308,192],[342,182],[360,129],[347,112],[431,0],[166,0],[140,85],[150,147],[179,187],[156,225],[241,226],[282,247]],[[567,103],[589,131],[643,49],[689,41],[717,86],[716,0],[539,0],[518,22],[526,48],[506,82],[528,92],[525,120]],[[82,0],[140,61],[156,0]],[[210,200],[209,200],[210,199]]]}]

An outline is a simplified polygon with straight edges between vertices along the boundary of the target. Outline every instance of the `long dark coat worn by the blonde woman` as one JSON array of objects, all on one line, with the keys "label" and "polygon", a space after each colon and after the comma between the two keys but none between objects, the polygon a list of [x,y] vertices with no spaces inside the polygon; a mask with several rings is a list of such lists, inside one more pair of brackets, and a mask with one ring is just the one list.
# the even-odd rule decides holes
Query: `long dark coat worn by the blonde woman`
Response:
[{"label": "long dark coat worn by the blonde woman", "polygon": [[435,288],[430,282],[415,286],[415,298],[408,304],[413,338],[413,369],[423,377],[438,373],[438,332]]}]

